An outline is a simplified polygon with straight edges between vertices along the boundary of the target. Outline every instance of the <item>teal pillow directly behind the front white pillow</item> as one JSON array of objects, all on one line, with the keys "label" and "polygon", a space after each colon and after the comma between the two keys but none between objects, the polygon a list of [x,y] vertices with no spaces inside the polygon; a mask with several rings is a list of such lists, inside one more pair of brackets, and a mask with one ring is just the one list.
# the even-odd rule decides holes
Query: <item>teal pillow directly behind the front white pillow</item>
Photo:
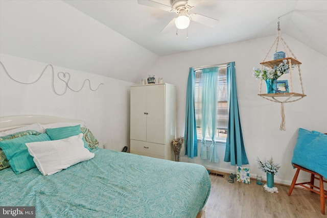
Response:
[{"label": "teal pillow directly behind the front white pillow", "polygon": [[[49,135],[51,140],[59,140],[68,138],[74,135],[78,135],[82,133],[81,131],[81,125],[77,126],[71,126],[71,127],[59,127],[59,128],[53,128],[53,129],[45,129],[45,133]],[[88,145],[83,137],[84,147],[90,150],[88,148]]]}]

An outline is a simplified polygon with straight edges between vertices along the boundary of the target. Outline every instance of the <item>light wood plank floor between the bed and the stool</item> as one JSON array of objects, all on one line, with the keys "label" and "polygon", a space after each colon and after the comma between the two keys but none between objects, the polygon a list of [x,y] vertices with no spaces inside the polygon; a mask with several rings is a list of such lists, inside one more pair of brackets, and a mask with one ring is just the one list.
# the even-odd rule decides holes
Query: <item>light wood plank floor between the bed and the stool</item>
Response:
[{"label": "light wood plank floor between the bed and the stool", "polygon": [[308,190],[294,188],[288,196],[289,187],[284,185],[276,185],[278,193],[270,193],[254,179],[244,184],[236,179],[234,183],[227,182],[229,175],[210,178],[206,218],[327,218],[327,214],[321,214],[319,195]]}]

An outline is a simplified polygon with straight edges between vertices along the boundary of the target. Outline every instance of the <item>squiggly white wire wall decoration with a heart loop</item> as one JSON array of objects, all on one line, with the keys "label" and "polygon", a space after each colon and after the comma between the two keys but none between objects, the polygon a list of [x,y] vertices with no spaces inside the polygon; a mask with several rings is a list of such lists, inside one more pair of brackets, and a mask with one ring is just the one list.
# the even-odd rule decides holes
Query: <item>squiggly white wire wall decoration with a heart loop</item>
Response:
[{"label": "squiggly white wire wall decoration with a heart loop", "polygon": [[[58,72],[57,76],[58,76],[59,80],[61,80],[61,81],[63,81],[63,82],[65,83],[65,90],[64,90],[63,93],[60,94],[60,93],[58,93],[58,92],[56,91],[56,89],[55,89],[55,80],[54,80],[54,77],[55,77],[55,70],[54,70],[53,65],[51,65],[51,64],[46,65],[46,66],[44,67],[44,69],[42,70],[40,76],[39,76],[35,81],[33,81],[33,82],[20,82],[20,81],[18,81],[18,80],[15,80],[12,76],[10,76],[10,74],[9,74],[9,72],[7,71],[5,65],[4,65],[1,61],[0,61],[0,64],[1,64],[1,66],[4,68],[4,70],[5,70],[6,74],[8,75],[8,77],[9,77],[10,79],[12,79],[13,81],[15,81],[15,82],[17,82],[17,83],[20,83],[20,84],[33,84],[33,83],[36,83],[36,82],[39,81],[39,79],[42,77],[42,75],[44,74],[45,70],[46,70],[48,67],[50,67],[50,68],[51,68],[51,74],[52,74],[52,90],[53,90],[53,91],[55,92],[55,94],[57,94],[57,95],[63,95],[63,94],[65,94],[66,91],[67,91],[67,88],[70,89],[70,90],[72,90],[72,91],[74,91],[74,92],[79,92],[79,91],[81,91],[82,88],[84,87],[86,81],[88,81],[89,88],[90,88],[91,91],[96,91],[96,90],[98,90],[98,88],[99,88],[101,85],[104,85],[103,83],[100,83],[96,89],[92,89],[92,88],[91,88],[91,82],[90,82],[90,80],[89,80],[89,79],[85,79],[84,82],[83,82],[82,87],[81,87],[80,89],[78,89],[78,90],[74,90],[74,89],[72,89],[72,88],[68,85],[68,82],[69,82],[69,80],[71,79],[71,74],[69,74],[69,72]],[[68,76],[69,76],[69,77],[68,77],[68,80],[65,81],[65,80],[63,80],[62,78],[60,78],[60,75],[61,75],[61,74],[62,74],[62,77],[63,77],[63,78],[66,78],[66,75],[68,75]]]}]

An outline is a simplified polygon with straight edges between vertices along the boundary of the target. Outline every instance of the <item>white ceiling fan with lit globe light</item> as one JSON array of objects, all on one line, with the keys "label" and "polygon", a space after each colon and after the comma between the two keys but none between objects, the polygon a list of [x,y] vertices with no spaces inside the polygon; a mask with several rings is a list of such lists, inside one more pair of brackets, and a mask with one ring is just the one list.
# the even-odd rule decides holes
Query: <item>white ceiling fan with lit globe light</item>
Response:
[{"label": "white ceiling fan with lit globe light", "polygon": [[170,2],[171,6],[152,0],[137,0],[137,3],[140,5],[146,5],[168,12],[175,12],[177,14],[177,17],[172,19],[168,25],[166,25],[166,27],[160,31],[160,33],[162,33],[167,27],[172,26],[173,23],[175,23],[177,29],[186,29],[190,25],[190,20],[201,23],[207,27],[215,27],[219,22],[218,19],[207,17],[201,14],[189,14],[189,11],[192,10],[196,5],[196,1],[170,0]]}]

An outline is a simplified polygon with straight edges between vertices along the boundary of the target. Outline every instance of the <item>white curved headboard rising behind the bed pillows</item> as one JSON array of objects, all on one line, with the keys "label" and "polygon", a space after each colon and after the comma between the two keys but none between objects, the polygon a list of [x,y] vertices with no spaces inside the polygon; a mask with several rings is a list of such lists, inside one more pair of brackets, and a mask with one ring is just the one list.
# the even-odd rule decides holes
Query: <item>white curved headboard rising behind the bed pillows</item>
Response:
[{"label": "white curved headboard rising behind the bed pillows", "polygon": [[15,129],[30,124],[52,124],[52,123],[84,123],[80,119],[67,119],[48,115],[15,115],[0,117],[0,132]]}]

